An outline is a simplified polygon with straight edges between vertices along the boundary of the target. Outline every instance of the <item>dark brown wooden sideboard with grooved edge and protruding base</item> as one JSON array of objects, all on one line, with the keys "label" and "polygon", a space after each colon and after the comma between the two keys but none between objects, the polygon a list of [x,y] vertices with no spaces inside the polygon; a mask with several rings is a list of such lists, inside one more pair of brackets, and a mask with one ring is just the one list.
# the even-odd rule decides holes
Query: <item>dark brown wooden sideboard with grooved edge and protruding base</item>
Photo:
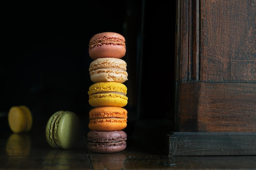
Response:
[{"label": "dark brown wooden sideboard with grooved edge and protruding base", "polygon": [[256,1],[176,5],[170,155],[256,154]]}]

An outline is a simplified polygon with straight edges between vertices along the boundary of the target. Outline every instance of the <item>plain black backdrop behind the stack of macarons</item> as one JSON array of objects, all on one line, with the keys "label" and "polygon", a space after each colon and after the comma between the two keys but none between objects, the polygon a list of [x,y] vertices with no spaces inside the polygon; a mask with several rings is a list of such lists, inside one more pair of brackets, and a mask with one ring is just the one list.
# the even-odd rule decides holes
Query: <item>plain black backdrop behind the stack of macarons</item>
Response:
[{"label": "plain black backdrop behind the stack of macarons", "polygon": [[[89,0],[84,4],[6,4],[1,7],[0,113],[30,108],[34,124],[58,110],[88,125],[92,84],[90,38],[117,32],[126,38],[128,123],[173,118],[175,1]],[[35,126],[35,125],[34,125]],[[129,126],[128,126],[129,127]],[[128,129],[129,130],[129,129]]]}]

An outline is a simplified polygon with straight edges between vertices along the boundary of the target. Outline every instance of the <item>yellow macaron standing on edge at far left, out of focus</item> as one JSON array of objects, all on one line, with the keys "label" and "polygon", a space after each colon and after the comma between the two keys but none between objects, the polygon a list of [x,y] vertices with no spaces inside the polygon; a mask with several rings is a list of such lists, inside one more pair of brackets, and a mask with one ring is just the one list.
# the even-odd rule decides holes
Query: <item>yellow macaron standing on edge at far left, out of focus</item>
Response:
[{"label": "yellow macaron standing on edge at far left, out of focus", "polygon": [[29,132],[32,115],[27,106],[12,106],[8,112],[8,123],[14,133]]}]

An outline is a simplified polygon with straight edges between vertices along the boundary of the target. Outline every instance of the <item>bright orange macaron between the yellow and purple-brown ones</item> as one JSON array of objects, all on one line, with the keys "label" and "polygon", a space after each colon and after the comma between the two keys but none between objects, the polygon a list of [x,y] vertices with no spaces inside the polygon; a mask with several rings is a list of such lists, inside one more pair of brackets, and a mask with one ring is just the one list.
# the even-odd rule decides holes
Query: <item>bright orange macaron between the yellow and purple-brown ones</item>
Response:
[{"label": "bright orange macaron between the yellow and purple-brown ones", "polygon": [[91,130],[114,131],[127,126],[127,110],[116,106],[93,108],[89,112]]}]

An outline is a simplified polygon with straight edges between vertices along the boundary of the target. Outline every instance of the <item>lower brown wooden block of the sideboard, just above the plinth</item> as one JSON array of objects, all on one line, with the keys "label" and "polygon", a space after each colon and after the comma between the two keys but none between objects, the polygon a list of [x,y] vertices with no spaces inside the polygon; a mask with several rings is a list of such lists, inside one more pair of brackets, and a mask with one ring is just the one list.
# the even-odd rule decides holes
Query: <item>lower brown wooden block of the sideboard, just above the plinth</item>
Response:
[{"label": "lower brown wooden block of the sideboard, just above the plinth", "polygon": [[256,132],[256,84],[180,83],[179,132]]}]

